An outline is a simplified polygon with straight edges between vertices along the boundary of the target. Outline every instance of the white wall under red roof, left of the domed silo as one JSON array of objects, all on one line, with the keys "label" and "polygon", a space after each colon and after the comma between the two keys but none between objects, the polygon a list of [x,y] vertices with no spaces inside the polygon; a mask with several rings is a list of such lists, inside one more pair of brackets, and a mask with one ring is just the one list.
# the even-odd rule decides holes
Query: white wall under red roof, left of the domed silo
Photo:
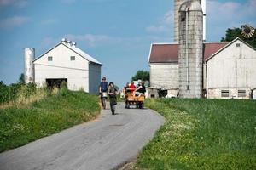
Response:
[{"label": "white wall under red roof, left of the domed silo", "polygon": [[150,64],[150,87],[152,88],[178,88],[178,65]]}]

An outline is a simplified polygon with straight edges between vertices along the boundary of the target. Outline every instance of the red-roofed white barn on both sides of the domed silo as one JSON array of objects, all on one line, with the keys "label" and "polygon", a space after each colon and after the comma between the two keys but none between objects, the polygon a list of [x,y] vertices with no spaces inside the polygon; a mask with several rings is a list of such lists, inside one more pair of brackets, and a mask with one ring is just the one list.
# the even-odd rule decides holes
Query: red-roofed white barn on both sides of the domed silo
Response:
[{"label": "red-roofed white barn on both sides of the domed silo", "polygon": [[[153,43],[148,56],[149,97],[156,89],[179,93],[178,44]],[[250,99],[256,93],[256,50],[236,38],[233,42],[203,43],[203,94],[209,99]]]}]

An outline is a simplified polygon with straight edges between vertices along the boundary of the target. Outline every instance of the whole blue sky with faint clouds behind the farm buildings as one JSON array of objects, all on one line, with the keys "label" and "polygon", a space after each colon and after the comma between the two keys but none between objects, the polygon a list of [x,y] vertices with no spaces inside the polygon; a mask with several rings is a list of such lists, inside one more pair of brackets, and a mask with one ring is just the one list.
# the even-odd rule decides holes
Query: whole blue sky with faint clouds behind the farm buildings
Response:
[{"label": "whole blue sky with faint clouds behind the farm buildings", "polygon": [[[255,16],[256,0],[207,0],[207,41],[229,27],[255,27]],[[23,72],[23,48],[39,56],[67,37],[123,86],[148,70],[152,42],[173,42],[173,0],[0,0],[0,37],[0,80],[8,84]]]}]

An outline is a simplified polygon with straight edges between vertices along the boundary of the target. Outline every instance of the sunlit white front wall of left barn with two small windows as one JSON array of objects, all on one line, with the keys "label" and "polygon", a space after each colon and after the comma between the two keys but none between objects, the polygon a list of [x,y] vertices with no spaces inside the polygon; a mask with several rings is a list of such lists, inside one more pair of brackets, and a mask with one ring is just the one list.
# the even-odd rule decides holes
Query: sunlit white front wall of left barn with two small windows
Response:
[{"label": "sunlit white front wall of left barn with two small windows", "polygon": [[[52,61],[48,61],[49,56]],[[71,61],[70,56],[75,56],[75,60]],[[89,92],[89,62],[63,44],[37,59],[34,65],[35,82],[40,87],[46,84],[47,78],[67,78],[68,89],[83,88]]]}]

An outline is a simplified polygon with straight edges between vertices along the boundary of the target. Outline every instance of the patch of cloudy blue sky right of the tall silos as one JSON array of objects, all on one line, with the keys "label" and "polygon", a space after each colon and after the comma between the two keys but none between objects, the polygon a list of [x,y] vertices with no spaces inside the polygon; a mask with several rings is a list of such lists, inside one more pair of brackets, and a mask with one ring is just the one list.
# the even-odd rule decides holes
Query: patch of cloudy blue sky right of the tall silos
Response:
[{"label": "patch of cloudy blue sky right of the tall silos", "polygon": [[224,37],[228,28],[240,27],[242,24],[256,26],[256,1],[243,3],[232,1],[207,1],[207,40],[218,41]]}]

